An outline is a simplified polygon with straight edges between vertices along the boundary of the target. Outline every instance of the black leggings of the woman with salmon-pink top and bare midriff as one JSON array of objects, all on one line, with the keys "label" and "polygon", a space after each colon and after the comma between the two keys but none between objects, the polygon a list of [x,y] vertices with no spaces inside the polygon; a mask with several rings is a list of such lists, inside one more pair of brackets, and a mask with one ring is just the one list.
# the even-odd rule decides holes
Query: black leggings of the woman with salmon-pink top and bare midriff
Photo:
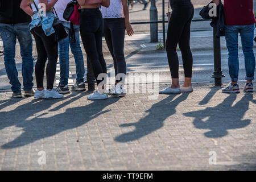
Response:
[{"label": "black leggings of the woman with salmon-pink top and bare midriff", "polygon": [[[86,55],[92,63],[97,85],[106,78],[106,62],[102,53],[103,19],[100,9],[80,10],[80,34]],[[98,78],[101,73],[105,73]],[[106,81],[106,80],[105,80]]]}]

